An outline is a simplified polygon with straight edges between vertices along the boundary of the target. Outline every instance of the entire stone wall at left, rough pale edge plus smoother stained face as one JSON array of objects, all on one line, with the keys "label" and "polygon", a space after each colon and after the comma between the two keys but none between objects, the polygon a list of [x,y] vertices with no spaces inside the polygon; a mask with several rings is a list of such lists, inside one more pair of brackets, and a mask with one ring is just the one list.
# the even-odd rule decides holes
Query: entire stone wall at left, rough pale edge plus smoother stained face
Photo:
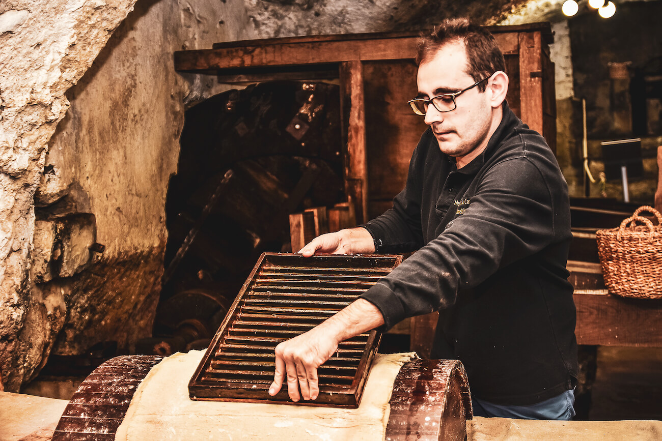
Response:
[{"label": "entire stone wall at left, rough pale edge plus smoother stained face", "polygon": [[[175,73],[172,53],[253,36],[240,1],[139,0],[132,11],[134,3],[0,6],[7,390],[34,376],[53,347],[128,348],[150,334],[183,111],[223,90],[213,77]],[[103,253],[89,251],[94,243]]]}]

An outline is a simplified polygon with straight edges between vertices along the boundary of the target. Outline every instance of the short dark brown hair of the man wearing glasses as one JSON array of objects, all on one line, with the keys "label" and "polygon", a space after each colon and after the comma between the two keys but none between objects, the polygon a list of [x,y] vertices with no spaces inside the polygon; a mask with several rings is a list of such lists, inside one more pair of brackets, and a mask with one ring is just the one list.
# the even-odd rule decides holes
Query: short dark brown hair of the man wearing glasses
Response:
[{"label": "short dark brown hair of the man wearing glasses", "polygon": [[[416,52],[417,65],[434,56],[445,44],[462,42],[467,51],[467,74],[473,81],[480,81],[496,71],[506,71],[506,62],[494,36],[468,19],[446,19],[430,34],[422,34],[421,37]],[[484,92],[485,83],[480,83],[478,88]]]}]

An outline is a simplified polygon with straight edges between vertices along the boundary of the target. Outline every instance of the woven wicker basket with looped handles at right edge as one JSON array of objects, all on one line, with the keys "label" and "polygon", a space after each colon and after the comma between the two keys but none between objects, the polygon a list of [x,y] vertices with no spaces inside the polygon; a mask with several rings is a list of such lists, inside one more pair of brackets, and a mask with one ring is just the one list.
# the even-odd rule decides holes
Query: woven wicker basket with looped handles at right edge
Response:
[{"label": "woven wicker basket with looped handles at right edge", "polygon": [[[651,212],[657,226],[639,216]],[[662,216],[655,208],[641,206],[620,227],[598,229],[598,255],[604,284],[625,297],[662,298]]]}]

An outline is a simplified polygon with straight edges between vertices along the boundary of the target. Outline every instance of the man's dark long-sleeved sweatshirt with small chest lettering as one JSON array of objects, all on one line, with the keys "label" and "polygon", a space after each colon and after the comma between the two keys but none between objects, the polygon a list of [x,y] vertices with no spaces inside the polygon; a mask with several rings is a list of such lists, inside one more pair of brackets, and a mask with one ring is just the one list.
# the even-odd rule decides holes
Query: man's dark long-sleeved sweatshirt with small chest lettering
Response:
[{"label": "man's dark long-sleeved sweatshirt with small chest lettering", "polygon": [[577,377],[570,208],[544,138],[503,110],[459,170],[424,132],[393,208],[363,225],[378,253],[418,251],[362,297],[387,329],[439,310],[432,358],[461,360],[479,399],[528,405]]}]

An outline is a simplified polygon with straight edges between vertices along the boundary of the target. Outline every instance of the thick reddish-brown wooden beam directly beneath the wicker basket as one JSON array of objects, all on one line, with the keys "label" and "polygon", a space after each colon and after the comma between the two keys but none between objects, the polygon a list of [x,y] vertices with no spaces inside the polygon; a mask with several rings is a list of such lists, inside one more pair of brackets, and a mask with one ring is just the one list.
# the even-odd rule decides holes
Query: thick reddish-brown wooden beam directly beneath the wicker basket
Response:
[{"label": "thick reddish-brown wooden beam directly beneath the wicker basket", "polygon": [[576,291],[573,299],[578,344],[662,347],[662,300],[582,291]]}]

